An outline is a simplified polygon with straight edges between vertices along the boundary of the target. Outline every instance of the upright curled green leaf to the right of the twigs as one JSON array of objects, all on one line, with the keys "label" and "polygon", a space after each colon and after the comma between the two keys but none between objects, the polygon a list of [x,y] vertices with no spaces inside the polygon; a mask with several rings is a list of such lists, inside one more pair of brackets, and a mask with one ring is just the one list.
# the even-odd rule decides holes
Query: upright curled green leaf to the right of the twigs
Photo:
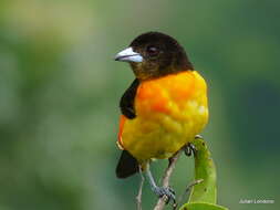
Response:
[{"label": "upright curled green leaf to the right of the twigs", "polygon": [[216,168],[210,157],[206,143],[201,138],[194,140],[195,154],[195,180],[203,182],[193,187],[188,202],[217,202]]}]

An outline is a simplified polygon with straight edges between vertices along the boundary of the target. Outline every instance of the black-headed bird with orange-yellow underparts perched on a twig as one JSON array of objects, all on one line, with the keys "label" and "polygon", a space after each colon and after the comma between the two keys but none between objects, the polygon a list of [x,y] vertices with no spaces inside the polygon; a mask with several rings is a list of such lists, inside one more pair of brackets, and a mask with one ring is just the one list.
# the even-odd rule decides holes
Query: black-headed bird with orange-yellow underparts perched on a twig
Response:
[{"label": "black-headed bird with orange-yellow underparts perched on a twig", "polygon": [[129,63],[135,75],[120,101],[116,176],[145,171],[158,197],[175,200],[174,190],[156,185],[149,165],[172,158],[204,129],[209,115],[206,81],[184,48],[162,32],[138,35],[115,61]]}]

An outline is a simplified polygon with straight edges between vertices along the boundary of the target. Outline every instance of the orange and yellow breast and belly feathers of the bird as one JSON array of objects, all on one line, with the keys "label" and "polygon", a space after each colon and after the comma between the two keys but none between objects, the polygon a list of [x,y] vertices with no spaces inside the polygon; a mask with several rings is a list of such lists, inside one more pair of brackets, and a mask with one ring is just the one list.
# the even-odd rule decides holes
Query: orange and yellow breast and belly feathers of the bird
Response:
[{"label": "orange and yellow breast and belly feathers of the bird", "polygon": [[199,134],[208,120],[207,87],[197,72],[141,83],[136,117],[126,119],[122,145],[139,162],[168,158]]}]

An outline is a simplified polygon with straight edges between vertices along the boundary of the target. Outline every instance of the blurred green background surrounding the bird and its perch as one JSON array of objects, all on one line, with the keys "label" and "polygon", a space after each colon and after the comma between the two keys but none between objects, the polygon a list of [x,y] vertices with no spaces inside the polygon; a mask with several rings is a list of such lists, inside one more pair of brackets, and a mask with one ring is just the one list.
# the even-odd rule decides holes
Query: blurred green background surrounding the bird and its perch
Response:
[{"label": "blurred green background surrounding the bird and its perch", "polygon": [[[133,74],[113,57],[147,31],[176,38],[208,82],[204,137],[218,202],[280,209],[279,8],[277,0],[2,0],[0,210],[135,209],[138,176],[114,174],[118,99]],[[165,166],[154,164],[157,178]],[[182,157],[177,193],[193,167]],[[144,209],[156,201],[147,186],[143,200]]]}]

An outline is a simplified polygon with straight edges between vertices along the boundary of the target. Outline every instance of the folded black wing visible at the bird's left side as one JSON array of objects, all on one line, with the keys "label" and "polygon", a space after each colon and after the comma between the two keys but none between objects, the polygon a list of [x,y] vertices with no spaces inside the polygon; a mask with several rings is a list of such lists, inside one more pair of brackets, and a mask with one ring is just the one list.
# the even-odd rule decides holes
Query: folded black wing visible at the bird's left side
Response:
[{"label": "folded black wing visible at the bird's left side", "polygon": [[121,98],[120,107],[122,114],[129,119],[136,117],[135,108],[134,108],[134,99],[137,93],[137,88],[139,85],[138,78],[135,78],[131,86],[125,91],[124,95]]}]

